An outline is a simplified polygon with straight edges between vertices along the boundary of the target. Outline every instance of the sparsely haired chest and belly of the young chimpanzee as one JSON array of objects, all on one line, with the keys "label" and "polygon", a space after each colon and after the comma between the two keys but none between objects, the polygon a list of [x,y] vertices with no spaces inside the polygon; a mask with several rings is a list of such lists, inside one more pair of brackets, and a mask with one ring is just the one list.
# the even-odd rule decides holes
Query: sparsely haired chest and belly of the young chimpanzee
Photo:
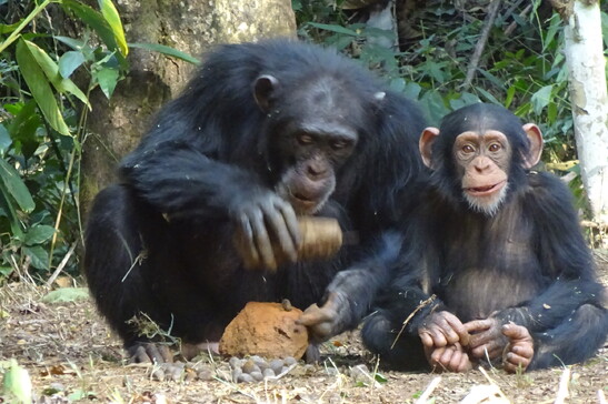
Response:
[{"label": "sparsely haired chest and belly of the young chimpanzee", "polygon": [[501,213],[509,214],[464,221],[441,238],[437,293],[461,321],[519,305],[541,286],[531,220]]}]

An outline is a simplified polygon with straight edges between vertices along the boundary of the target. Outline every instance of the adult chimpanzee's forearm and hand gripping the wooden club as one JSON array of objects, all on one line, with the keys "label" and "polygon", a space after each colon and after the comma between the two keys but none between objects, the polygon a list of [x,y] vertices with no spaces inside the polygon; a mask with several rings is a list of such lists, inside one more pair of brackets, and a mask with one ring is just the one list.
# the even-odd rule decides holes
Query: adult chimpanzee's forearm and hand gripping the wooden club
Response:
[{"label": "adult chimpanzee's forearm and hand gripping the wooden club", "polygon": [[147,142],[121,165],[137,194],[171,219],[226,218],[241,229],[250,262],[276,269],[270,239],[297,259],[299,229],[291,205],[262,185],[253,171],[213,160],[198,140]]}]

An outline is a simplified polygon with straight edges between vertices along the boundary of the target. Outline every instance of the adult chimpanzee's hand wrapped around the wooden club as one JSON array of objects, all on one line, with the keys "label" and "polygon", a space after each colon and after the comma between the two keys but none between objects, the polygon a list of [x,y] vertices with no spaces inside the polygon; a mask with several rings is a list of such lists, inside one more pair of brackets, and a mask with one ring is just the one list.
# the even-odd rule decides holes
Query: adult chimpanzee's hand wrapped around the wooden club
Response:
[{"label": "adult chimpanzee's hand wrapped around the wooden club", "polygon": [[[247,267],[276,270],[279,255],[296,262],[300,231],[288,202],[263,191],[238,199],[229,211],[240,232],[237,245]],[[280,251],[275,250],[278,248]]]}]

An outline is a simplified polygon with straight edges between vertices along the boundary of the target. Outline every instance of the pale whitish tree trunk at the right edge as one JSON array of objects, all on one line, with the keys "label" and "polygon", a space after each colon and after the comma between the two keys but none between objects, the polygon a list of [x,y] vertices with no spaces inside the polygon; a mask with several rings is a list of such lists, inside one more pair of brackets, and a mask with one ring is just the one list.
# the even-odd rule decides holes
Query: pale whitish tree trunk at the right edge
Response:
[{"label": "pale whitish tree trunk at the right edge", "polygon": [[594,220],[608,223],[608,95],[598,0],[552,0],[566,21],[565,53],[580,173]]}]

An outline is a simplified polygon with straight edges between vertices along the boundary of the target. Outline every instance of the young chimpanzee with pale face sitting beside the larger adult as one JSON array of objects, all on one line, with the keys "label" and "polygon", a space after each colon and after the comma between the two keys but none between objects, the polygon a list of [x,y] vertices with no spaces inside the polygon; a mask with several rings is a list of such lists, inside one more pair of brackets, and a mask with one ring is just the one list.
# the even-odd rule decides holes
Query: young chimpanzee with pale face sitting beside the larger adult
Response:
[{"label": "young chimpanzee with pale face sitting beside the larger adult", "polygon": [[537,125],[481,103],[422,132],[431,178],[363,326],[371,351],[401,368],[462,372],[489,358],[515,372],[580,362],[604,344],[604,291],[570,193],[529,171],[541,149]]}]

